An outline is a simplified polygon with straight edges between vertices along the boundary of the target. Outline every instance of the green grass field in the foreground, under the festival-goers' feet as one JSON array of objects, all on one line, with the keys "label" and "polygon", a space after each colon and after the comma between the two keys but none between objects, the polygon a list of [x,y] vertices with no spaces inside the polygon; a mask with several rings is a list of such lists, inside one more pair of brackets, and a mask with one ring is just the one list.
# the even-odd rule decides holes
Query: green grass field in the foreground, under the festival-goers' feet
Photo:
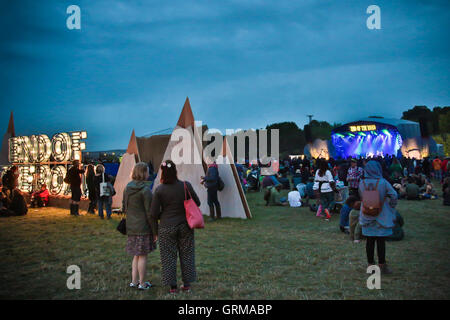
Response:
[{"label": "green grass field in the foreground, under the festival-goers' feet", "polygon": [[[172,297],[160,285],[159,251],[148,259],[156,285],[128,288],[131,258],[119,217],[72,217],[30,209],[0,219],[1,299],[449,299],[450,210],[442,200],[400,201],[406,237],[387,243],[394,274],[381,290],[366,287],[365,244],[354,244],[307,208],[265,207],[248,195],[251,220],[208,222],[196,231],[198,282]],[[81,289],[68,290],[66,268],[81,268]],[[179,270],[178,273],[180,274]],[[180,279],[180,278],[179,278]]]}]

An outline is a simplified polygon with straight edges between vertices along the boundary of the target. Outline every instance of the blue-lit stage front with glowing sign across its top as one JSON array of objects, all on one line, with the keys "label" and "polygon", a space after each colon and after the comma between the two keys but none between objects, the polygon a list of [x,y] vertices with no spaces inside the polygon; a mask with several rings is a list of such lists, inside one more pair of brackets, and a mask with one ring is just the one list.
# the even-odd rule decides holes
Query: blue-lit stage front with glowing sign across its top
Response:
[{"label": "blue-lit stage front with glowing sign across its top", "polygon": [[373,121],[351,122],[332,131],[337,158],[401,156],[402,136],[397,127]]}]

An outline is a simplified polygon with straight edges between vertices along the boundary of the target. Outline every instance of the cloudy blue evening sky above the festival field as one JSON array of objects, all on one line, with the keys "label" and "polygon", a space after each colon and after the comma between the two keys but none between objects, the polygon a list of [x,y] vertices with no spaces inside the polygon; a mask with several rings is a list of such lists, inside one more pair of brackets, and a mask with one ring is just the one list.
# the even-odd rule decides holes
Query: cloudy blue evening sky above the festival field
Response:
[{"label": "cloudy blue evening sky above the festival field", "polygon": [[[69,5],[81,30],[66,27]],[[381,8],[381,30],[366,9]],[[85,129],[88,150],[173,127],[300,127],[450,105],[450,2],[0,0],[0,135]]]}]

